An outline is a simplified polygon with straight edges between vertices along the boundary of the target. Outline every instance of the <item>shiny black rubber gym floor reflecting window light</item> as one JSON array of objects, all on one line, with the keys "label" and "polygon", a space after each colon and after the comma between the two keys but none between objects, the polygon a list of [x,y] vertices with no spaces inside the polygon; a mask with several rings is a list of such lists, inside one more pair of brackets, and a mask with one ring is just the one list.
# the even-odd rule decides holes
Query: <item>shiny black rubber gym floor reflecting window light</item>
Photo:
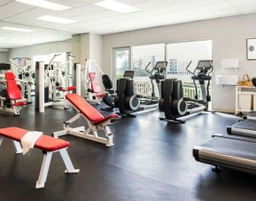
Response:
[{"label": "shiny black rubber gym floor reflecting window light", "polygon": [[[27,106],[21,116],[0,114],[0,128],[20,127],[51,134],[74,110],[49,108],[35,113]],[[35,189],[43,154],[15,155],[11,141],[0,148],[0,200],[256,200],[256,176],[211,166],[192,157],[194,145],[214,133],[225,133],[236,119],[206,113],[186,124],[159,121],[159,112],[123,118],[112,125],[111,148],[74,136],[62,137],[80,174],[64,174],[65,166],[53,155],[45,189]],[[80,120],[74,126],[85,123]]]}]

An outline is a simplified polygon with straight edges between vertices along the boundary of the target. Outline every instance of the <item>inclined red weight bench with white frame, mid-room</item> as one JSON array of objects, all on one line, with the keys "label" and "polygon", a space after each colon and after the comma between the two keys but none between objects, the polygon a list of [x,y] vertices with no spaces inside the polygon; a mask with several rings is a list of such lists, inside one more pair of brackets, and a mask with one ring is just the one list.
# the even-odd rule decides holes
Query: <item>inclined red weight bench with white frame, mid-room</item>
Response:
[{"label": "inclined red weight bench with white frame, mid-room", "polygon": [[[106,146],[112,146],[112,132],[109,125],[117,120],[118,115],[112,114],[110,116],[104,117],[100,112],[91,106],[86,100],[77,94],[67,94],[66,100],[73,105],[74,109],[78,112],[73,118],[64,122],[64,130],[54,132],[52,135],[54,137],[59,137],[62,135],[75,135],[81,138],[85,138],[97,143],[104,143]],[[87,123],[88,128],[70,128],[69,124],[73,123],[75,120],[79,120],[83,117]],[[103,129],[105,131],[105,137],[100,137],[97,135],[97,130]],[[91,132],[91,134],[90,134]]]}]

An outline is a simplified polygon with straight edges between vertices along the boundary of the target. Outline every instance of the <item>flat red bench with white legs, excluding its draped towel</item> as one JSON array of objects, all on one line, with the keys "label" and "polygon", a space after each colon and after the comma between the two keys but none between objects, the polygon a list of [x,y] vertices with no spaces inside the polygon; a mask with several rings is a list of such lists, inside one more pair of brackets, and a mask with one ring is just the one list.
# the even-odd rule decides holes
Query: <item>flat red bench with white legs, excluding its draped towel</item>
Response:
[{"label": "flat red bench with white legs, excluding its draped towel", "polygon": [[[3,143],[4,137],[9,138],[13,141],[16,153],[22,153],[22,148],[20,145],[21,138],[27,134],[27,130],[22,128],[1,128],[0,129],[0,146]],[[35,189],[44,188],[44,183],[46,182],[47,175],[50,167],[50,160],[52,153],[59,152],[61,158],[66,166],[65,173],[79,173],[79,169],[74,169],[71,159],[66,151],[69,147],[69,143],[56,139],[48,135],[41,135],[39,139],[35,142],[35,148],[43,151],[43,164],[41,166],[40,174],[36,182]]]}]

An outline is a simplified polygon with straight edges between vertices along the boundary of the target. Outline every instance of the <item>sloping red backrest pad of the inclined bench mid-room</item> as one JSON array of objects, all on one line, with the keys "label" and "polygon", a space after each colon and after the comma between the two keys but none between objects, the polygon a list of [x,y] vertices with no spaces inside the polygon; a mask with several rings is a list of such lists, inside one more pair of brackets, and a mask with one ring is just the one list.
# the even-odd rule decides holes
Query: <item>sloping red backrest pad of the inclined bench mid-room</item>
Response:
[{"label": "sloping red backrest pad of the inclined bench mid-room", "polygon": [[74,107],[81,112],[89,121],[96,122],[98,120],[103,120],[104,116],[97,112],[97,110],[87,103],[82,97],[77,94],[67,94],[66,99],[74,105]]}]

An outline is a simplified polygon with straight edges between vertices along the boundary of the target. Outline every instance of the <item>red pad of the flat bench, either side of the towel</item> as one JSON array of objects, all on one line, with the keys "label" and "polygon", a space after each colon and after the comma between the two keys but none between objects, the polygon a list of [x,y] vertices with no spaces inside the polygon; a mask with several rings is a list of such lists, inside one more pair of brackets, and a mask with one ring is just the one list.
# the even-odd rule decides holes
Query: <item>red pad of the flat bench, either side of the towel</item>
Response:
[{"label": "red pad of the flat bench, either side of the towel", "polygon": [[[25,129],[15,127],[0,129],[0,135],[19,142],[21,138],[27,134],[27,132],[28,131]],[[48,135],[41,135],[35,142],[35,148],[42,151],[58,151],[60,149],[69,147],[69,145],[70,144],[64,140],[60,140]]]}]

